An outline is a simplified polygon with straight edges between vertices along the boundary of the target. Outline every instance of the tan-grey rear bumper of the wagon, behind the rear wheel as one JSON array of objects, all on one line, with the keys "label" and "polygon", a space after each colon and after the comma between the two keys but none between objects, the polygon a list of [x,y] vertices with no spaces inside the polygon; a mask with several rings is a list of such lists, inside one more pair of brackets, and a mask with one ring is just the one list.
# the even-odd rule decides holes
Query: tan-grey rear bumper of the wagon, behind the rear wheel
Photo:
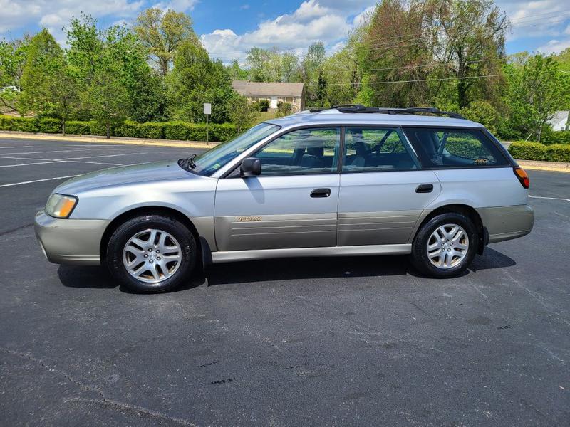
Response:
[{"label": "tan-grey rear bumper of the wagon, behind the rear wheel", "polygon": [[489,243],[526,236],[534,225],[534,211],[528,205],[477,209],[489,231]]}]

